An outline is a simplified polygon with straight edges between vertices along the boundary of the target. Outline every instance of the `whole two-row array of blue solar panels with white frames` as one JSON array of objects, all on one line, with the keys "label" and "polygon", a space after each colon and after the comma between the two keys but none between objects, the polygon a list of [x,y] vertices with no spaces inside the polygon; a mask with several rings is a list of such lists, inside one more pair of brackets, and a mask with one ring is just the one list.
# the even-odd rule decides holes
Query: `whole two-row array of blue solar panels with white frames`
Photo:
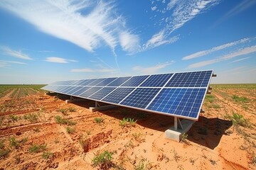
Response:
[{"label": "whole two-row array of blue solar panels with white frames", "polygon": [[57,81],[42,89],[59,94],[198,120],[213,70],[134,77]]}]

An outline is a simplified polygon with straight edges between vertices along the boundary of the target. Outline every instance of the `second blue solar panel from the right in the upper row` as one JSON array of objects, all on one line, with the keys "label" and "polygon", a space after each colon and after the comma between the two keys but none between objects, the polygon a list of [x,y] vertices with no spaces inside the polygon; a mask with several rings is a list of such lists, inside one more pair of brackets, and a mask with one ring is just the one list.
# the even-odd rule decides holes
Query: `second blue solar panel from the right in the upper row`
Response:
[{"label": "second blue solar panel from the right in the upper row", "polygon": [[140,86],[157,86],[162,87],[171,78],[173,74],[156,74],[151,75],[149,79],[143,82]]}]

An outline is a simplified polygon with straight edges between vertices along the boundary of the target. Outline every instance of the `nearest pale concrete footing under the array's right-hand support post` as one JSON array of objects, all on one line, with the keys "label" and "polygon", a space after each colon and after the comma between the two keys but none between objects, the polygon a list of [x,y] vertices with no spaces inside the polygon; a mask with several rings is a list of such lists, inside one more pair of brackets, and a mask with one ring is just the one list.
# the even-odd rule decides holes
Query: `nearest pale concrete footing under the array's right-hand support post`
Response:
[{"label": "nearest pale concrete footing under the array's right-hand support post", "polygon": [[176,129],[174,126],[172,126],[171,128],[169,128],[169,130],[165,131],[166,138],[169,140],[175,140],[177,142],[180,142],[182,134],[188,132],[188,130],[190,130],[190,128],[192,127],[193,123],[195,123],[195,121],[193,120],[181,120],[182,129]]}]

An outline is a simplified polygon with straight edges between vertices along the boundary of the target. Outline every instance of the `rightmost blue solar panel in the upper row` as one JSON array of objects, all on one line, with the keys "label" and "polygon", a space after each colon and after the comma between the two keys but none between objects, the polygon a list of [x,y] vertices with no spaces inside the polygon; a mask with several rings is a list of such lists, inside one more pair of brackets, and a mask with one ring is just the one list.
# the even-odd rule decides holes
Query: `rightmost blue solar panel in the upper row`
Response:
[{"label": "rightmost blue solar panel in the upper row", "polygon": [[207,87],[213,71],[176,73],[166,87]]}]

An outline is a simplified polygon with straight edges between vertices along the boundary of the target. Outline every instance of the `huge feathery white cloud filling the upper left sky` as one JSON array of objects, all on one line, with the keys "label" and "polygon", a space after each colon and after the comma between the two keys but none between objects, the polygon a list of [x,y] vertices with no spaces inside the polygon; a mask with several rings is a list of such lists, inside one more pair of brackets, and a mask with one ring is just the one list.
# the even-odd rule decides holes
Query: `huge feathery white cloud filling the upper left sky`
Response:
[{"label": "huge feathery white cloud filling the upper left sky", "polygon": [[125,31],[124,18],[117,16],[111,2],[3,0],[0,6],[43,33],[72,42],[89,52],[102,44],[114,50],[119,31]]}]

